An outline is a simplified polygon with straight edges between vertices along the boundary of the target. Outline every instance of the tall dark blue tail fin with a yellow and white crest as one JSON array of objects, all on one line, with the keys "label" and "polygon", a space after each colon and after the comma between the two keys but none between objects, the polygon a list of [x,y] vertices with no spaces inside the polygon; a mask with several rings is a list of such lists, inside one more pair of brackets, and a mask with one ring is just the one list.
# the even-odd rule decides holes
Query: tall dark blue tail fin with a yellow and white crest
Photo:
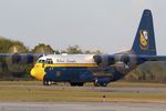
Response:
[{"label": "tall dark blue tail fin with a yellow and white crest", "polygon": [[132,51],[136,54],[156,56],[155,34],[151,10],[144,10]]}]

